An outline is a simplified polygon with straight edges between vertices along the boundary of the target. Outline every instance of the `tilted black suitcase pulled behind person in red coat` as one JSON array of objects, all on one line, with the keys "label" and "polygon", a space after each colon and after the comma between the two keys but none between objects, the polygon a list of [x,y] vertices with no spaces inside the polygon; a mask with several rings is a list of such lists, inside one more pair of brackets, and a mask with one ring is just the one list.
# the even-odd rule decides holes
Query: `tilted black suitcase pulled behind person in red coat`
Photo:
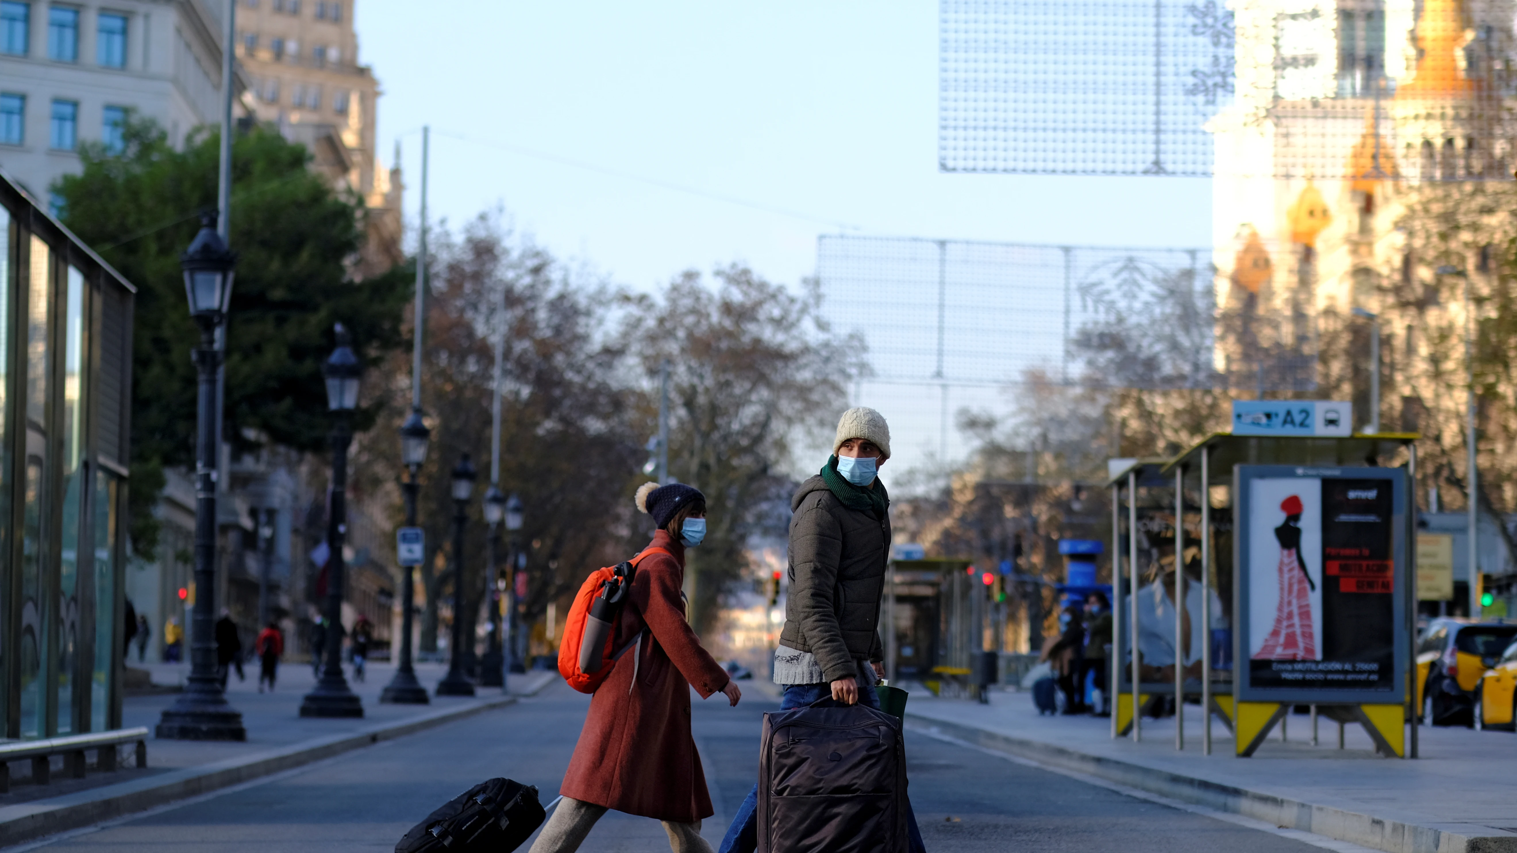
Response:
[{"label": "tilted black suitcase pulled behind person in red coat", "polygon": [[543,826],[537,788],[490,779],[426,815],[394,845],[394,853],[510,853]]}]

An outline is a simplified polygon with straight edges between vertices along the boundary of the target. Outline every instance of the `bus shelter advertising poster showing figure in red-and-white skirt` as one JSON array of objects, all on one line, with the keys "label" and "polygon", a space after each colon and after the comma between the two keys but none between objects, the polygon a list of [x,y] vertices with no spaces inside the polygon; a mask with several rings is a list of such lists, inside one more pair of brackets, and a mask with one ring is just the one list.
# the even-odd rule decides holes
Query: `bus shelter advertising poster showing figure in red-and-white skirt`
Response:
[{"label": "bus shelter advertising poster showing figure in red-and-white skirt", "polygon": [[1233,469],[1236,691],[1394,703],[1406,665],[1402,469]]}]

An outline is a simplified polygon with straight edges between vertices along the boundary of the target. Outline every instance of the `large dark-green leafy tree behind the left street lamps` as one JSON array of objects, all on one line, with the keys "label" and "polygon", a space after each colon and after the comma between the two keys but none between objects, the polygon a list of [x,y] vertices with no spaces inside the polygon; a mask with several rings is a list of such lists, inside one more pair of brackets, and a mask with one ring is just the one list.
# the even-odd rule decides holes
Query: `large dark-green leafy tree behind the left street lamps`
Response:
[{"label": "large dark-green leafy tree behind the left street lamps", "polygon": [[[64,223],[137,285],[132,351],[130,531],[140,554],[156,543],[152,505],[164,466],[194,460],[196,372],[188,349],[199,332],[185,304],[179,255],[215,209],[218,134],[191,134],[182,149],[132,118],[112,152],[83,146],[80,175],[59,179]],[[226,326],[226,437],[240,449],[273,442],[299,451],[326,446],[331,420],[322,361],[332,323],[343,322],[367,363],[402,346],[400,320],[413,273],[393,269],[360,279],[364,240],[356,197],[309,170],[303,146],[267,127],[232,144],[232,232],[237,281]],[[358,413],[367,430],[376,407]]]}]

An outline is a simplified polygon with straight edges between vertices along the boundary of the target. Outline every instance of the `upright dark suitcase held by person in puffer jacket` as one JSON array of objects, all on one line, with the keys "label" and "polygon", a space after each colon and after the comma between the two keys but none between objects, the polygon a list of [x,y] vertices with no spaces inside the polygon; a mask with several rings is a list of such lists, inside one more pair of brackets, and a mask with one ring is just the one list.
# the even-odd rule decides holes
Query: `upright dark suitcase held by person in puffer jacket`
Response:
[{"label": "upright dark suitcase held by person in puffer jacket", "polygon": [[758,853],[906,853],[906,744],[889,713],[824,698],[763,715]]}]

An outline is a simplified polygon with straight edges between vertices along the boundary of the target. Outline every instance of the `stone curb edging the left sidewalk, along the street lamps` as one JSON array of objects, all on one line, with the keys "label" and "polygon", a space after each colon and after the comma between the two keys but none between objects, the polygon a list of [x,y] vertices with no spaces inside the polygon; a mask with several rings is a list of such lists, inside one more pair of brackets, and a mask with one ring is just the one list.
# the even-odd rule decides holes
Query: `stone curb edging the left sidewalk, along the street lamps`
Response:
[{"label": "stone curb edging the left sidewalk, along the street lamps", "polygon": [[262,753],[253,753],[250,756],[238,756],[215,763],[182,768],[162,776],[135,779],[132,782],[76,791],[50,800],[36,800],[32,803],[8,806],[0,809],[0,847],[32,841],[44,835],[67,832],[70,829],[85,827],[133,812],[143,812],[174,800],[208,794],[322,759],[340,756],[381,741],[393,741],[396,738],[435,729],[437,726],[464,719],[485,710],[516,704],[519,698],[523,695],[534,695],[542,691],[543,686],[531,691],[529,694],[505,695],[464,707],[434,710],[400,722],[369,726],[356,732],[331,735],[326,738],[313,738],[288,747],[278,747]]}]

